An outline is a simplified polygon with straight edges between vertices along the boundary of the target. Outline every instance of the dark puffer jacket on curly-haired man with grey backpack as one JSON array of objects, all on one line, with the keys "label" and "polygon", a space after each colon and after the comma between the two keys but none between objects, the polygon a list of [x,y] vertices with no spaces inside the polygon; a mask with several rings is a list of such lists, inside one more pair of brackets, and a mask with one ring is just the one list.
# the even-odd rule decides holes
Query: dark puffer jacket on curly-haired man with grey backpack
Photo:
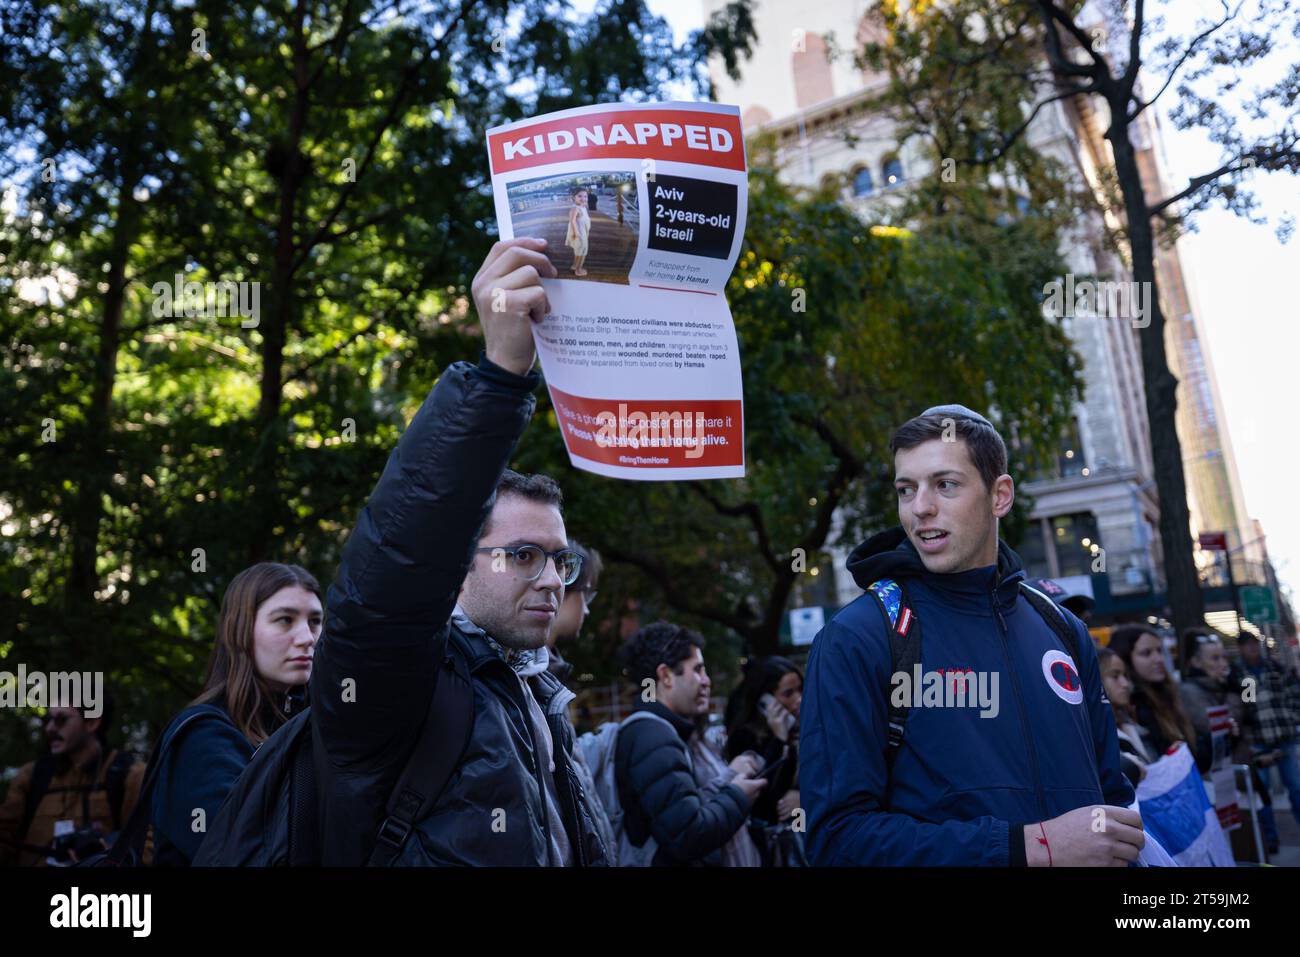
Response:
[{"label": "dark puffer jacket on curly-haired man with grey backpack", "polygon": [[655,839],[654,865],[722,866],[722,848],[744,827],[749,798],[734,784],[706,794],[692,772],[686,741],[696,724],[658,701],[637,701],[633,711],[667,720],[640,719],[619,732],[614,753],[623,827],[636,846]]}]

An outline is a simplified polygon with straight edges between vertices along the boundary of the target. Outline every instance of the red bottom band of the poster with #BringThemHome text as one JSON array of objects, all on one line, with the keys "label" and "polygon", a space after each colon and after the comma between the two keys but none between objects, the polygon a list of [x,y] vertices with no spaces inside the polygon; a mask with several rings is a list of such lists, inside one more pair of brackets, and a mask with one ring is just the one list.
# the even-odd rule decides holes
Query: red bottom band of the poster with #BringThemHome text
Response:
[{"label": "red bottom band of the poster with #BringThemHome text", "polygon": [[745,464],[734,399],[586,399],[550,386],[571,455],[624,468]]}]

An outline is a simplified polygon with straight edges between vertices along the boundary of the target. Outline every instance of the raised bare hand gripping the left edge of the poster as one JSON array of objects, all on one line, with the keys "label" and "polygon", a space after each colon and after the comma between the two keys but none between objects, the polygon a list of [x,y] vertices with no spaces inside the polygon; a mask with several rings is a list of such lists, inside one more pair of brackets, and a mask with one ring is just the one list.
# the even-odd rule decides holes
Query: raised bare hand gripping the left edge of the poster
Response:
[{"label": "raised bare hand gripping the left edge of the poster", "polygon": [[545,248],[546,241],[533,237],[498,242],[471,286],[488,359],[519,376],[528,374],[537,358],[532,322],[550,311],[542,277],[554,278],[555,267]]}]

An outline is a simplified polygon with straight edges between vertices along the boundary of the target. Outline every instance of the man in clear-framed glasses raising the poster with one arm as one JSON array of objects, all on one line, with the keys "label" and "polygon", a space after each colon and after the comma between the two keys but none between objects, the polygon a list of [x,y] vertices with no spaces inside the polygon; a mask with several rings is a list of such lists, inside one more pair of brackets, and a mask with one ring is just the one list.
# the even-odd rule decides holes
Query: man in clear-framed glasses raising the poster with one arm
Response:
[{"label": "man in clear-framed glasses raising the poster with one arm", "polygon": [[343,547],[312,675],[326,866],[368,859],[445,680],[471,685],[469,733],[445,742],[455,770],[393,863],[606,863],[572,766],[573,693],[546,670],[582,562],[559,485],[506,468],[541,384],[532,324],[549,311],[541,278],[555,276],[545,247],[493,246],[472,285],[484,355],[443,371]]}]

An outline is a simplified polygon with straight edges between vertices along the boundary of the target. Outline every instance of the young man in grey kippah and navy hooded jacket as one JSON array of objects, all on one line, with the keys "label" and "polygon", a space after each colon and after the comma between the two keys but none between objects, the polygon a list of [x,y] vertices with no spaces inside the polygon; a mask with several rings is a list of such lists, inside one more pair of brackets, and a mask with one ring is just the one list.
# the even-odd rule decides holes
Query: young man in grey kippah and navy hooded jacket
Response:
[{"label": "young man in grey kippah and navy hooded jacket", "polygon": [[800,755],[815,865],[1126,866],[1143,846],[1083,624],[998,540],[1006,445],[965,406],[892,437],[900,527],[818,635]]}]

